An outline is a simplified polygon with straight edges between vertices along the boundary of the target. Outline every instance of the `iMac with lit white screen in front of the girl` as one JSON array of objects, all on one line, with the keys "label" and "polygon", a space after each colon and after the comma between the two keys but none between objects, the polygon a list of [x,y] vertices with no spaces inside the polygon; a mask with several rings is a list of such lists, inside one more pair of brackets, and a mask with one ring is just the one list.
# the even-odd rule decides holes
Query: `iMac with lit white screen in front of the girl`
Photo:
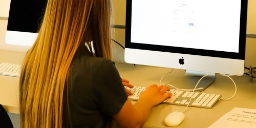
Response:
[{"label": "iMac with lit white screen in front of the girl", "polygon": [[[187,77],[192,80],[187,88],[192,89],[203,74],[243,75],[247,3],[127,0],[124,59],[195,73]],[[215,74],[209,75],[198,88],[205,89],[214,80]]]}]

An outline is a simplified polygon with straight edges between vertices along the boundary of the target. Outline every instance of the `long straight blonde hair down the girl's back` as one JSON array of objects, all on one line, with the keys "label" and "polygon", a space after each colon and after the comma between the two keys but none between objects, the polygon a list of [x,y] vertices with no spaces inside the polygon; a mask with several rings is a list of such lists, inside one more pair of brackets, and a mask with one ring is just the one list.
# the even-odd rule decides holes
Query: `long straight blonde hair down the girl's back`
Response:
[{"label": "long straight blonde hair down the girl's back", "polygon": [[63,93],[78,48],[87,44],[95,56],[111,59],[111,7],[111,0],[48,0],[20,74],[21,127],[62,127]]}]

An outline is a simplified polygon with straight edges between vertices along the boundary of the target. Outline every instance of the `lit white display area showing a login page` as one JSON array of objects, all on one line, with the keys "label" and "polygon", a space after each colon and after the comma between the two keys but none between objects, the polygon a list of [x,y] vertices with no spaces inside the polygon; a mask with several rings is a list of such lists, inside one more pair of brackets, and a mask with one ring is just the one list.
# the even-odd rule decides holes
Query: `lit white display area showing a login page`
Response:
[{"label": "lit white display area showing a login page", "polygon": [[136,0],[131,42],[239,52],[241,0]]}]

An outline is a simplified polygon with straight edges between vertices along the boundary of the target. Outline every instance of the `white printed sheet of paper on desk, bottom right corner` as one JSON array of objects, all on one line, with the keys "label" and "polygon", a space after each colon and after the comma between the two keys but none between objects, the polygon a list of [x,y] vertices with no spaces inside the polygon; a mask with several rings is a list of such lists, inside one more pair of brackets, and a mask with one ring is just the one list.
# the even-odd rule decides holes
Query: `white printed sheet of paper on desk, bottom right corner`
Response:
[{"label": "white printed sheet of paper on desk, bottom right corner", "polygon": [[234,108],[208,128],[219,127],[256,127],[256,109]]}]

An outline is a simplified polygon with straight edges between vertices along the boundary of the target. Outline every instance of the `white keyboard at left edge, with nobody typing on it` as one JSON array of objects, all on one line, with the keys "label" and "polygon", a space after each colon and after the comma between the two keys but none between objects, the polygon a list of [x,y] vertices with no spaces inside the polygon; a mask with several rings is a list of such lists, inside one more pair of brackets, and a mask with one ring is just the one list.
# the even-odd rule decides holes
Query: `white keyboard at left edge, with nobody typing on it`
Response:
[{"label": "white keyboard at left edge, with nobody typing on it", "polygon": [[19,77],[20,67],[20,65],[14,63],[0,63],[0,75]]}]

